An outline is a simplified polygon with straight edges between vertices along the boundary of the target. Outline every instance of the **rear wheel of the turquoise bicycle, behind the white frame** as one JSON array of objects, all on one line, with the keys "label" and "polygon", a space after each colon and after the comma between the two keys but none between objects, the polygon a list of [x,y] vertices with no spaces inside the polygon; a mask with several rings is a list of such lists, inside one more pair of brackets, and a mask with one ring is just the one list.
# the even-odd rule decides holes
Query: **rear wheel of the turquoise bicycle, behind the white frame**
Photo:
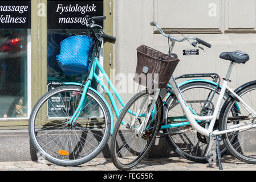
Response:
[{"label": "rear wheel of the turquoise bicycle, behind the white frame", "polygon": [[[212,90],[212,92],[213,92],[215,88],[216,88],[216,85],[213,85],[210,83],[191,82],[189,84],[185,84],[185,85],[181,86],[180,89],[181,89],[182,95],[185,97],[185,100],[187,101],[187,104],[190,107],[192,107],[192,109],[197,114],[199,114],[202,109],[201,106],[204,104],[204,101],[205,101],[204,98],[207,98],[207,96],[208,96],[208,94],[207,94],[208,92],[206,92],[206,91]],[[199,89],[201,89],[201,90],[199,90]],[[198,94],[198,93],[202,93],[202,89],[204,89],[204,90],[207,89],[205,91],[206,94],[204,94],[204,96],[202,96],[203,94]],[[190,90],[192,90],[193,93],[189,93]],[[220,89],[217,89],[216,95],[218,95],[218,94],[220,94]],[[188,95],[190,95],[191,97],[193,97],[193,95],[194,95],[194,97],[195,97],[194,100],[189,100],[190,101],[189,102],[188,98],[190,96],[188,96]],[[216,98],[216,100],[217,100],[216,95],[214,96],[214,98]],[[198,98],[196,99],[196,97],[198,97]],[[225,94],[224,100],[226,100],[227,97],[229,97],[229,96],[227,94]],[[168,113],[169,113],[170,107],[173,107],[172,109],[170,109],[170,115],[175,115],[176,114],[176,113],[174,113],[174,111],[175,111],[184,117],[184,118],[182,118],[182,119],[185,119],[184,121],[187,121],[185,114],[182,111],[182,108],[181,108],[180,104],[178,104],[176,99],[177,99],[176,96],[174,96],[174,94],[172,94],[166,100],[166,104],[164,106],[163,125],[169,124]],[[197,102],[200,105],[196,105]],[[214,102],[214,104],[213,104],[213,102],[214,101],[212,101],[212,103],[211,103],[212,106],[210,107],[210,109],[212,109],[212,111],[214,111],[214,104],[217,103],[217,102]],[[222,102],[222,104],[224,104],[224,102]],[[175,122],[173,121],[172,123],[175,123]],[[216,121],[216,124],[214,125],[214,127],[216,129],[217,129],[217,125],[218,125],[218,122]],[[176,152],[178,155],[182,156],[182,158],[191,160],[193,162],[198,162],[198,163],[207,163],[208,162],[208,160],[206,160],[206,156],[205,156],[205,152],[206,152],[206,149],[208,146],[208,138],[206,138],[204,135],[198,133],[196,130],[193,129],[193,127],[191,127],[190,125],[187,125],[184,127],[176,127],[174,129],[163,129],[162,131],[165,134],[165,138],[166,138],[167,142],[169,143],[170,147],[173,149],[174,152]],[[176,133],[178,132],[178,134],[170,134],[170,133],[175,133],[175,132]],[[216,146],[216,145],[214,145],[214,146]],[[227,149],[225,148],[223,142],[221,142],[220,150],[221,150],[221,156],[224,156],[227,152]]]}]

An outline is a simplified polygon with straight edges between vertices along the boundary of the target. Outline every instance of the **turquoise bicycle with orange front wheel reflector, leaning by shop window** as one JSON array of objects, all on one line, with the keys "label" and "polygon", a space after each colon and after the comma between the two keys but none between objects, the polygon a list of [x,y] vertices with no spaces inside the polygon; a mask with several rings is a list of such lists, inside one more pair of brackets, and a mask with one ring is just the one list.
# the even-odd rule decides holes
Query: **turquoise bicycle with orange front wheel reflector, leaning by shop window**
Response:
[{"label": "turquoise bicycle with orange front wheel reflector, leaning by shop window", "polygon": [[[87,18],[87,27],[95,45],[95,57],[90,65],[87,80],[82,83],[61,83],[61,86],[44,94],[31,111],[29,135],[32,144],[43,158],[60,166],[77,166],[95,158],[103,150],[109,136],[113,133],[114,117],[111,106],[95,88],[92,88],[92,80],[97,81],[104,92],[107,93],[117,118],[120,116],[121,109],[125,106],[124,101],[99,63],[102,39],[105,42],[115,42],[113,36],[108,36],[103,32],[95,33],[93,29],[97,26],[95,21],[103,19],[105,19],[105,16]],[[99,76],[99,72],[101,76]],[[207,75],[211,77],[212,74],[185,75],[181,78],[205,77]],[[103,77],[112,92],[104,84]],[[216,80],[215,77],[212,78]],[[188,88],[191,84],[194,86],[204,84],[205,86],[201,89],[210,90],[210,92],[214,91],[212,88],[221,87],[216,81],[197,78],[181,82],[179,84],[181,92],[183,92],[182,88],[186,90],[185,88]],[[198,86],[198,88],[200,87]],[[117,107],[112,93],[120,102],[121,109]],[[162,103],[166,99],[159,97],[155,113],[151,118],[152,121],[161,121]],[[142,115],[142,117],[145,116]],[[143,138],[148,142],[155,137],[155,135],[152,135],[152,131],[149,131]]]}]

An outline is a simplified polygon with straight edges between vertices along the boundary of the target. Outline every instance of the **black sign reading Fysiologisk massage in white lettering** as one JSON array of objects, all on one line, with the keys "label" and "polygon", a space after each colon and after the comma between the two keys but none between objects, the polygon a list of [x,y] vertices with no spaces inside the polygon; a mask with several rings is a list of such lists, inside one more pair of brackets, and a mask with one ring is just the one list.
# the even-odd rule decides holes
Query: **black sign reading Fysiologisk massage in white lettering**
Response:
[{"label": "black sign reading Fysiologisk massage in white lettering", "polygon": [[[101,1],[48,1],[47,26],[49,29],[85,29],[86,15],[103,16]],[[103,27],[103,20],[95,22]]]}]

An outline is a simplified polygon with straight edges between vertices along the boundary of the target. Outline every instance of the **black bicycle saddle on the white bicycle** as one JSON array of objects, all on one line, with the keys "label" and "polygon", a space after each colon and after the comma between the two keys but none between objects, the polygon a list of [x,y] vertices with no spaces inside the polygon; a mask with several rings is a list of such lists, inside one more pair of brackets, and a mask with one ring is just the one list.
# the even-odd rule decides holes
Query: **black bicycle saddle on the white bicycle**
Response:
[{"label": "black bicycle saddle on the white bicycle", "polygon": [[242,51],[233,51],[233,52],[222,52],[220,55],[221,59],[230,60],[235,63],[243,63],[245,64],[246,61],[250,59],[247,53]]}]

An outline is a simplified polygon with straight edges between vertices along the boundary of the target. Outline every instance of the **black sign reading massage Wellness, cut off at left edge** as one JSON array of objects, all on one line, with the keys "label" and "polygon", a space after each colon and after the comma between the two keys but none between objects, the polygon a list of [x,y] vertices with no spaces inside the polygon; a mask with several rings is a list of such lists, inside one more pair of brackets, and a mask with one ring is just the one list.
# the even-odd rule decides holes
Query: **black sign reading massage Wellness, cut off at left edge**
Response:
[{"label": "black sign reading massage Wellness, cut off at left edge", "polygon": [[0,28],[31,28],[31,1],[0,1]]}]

